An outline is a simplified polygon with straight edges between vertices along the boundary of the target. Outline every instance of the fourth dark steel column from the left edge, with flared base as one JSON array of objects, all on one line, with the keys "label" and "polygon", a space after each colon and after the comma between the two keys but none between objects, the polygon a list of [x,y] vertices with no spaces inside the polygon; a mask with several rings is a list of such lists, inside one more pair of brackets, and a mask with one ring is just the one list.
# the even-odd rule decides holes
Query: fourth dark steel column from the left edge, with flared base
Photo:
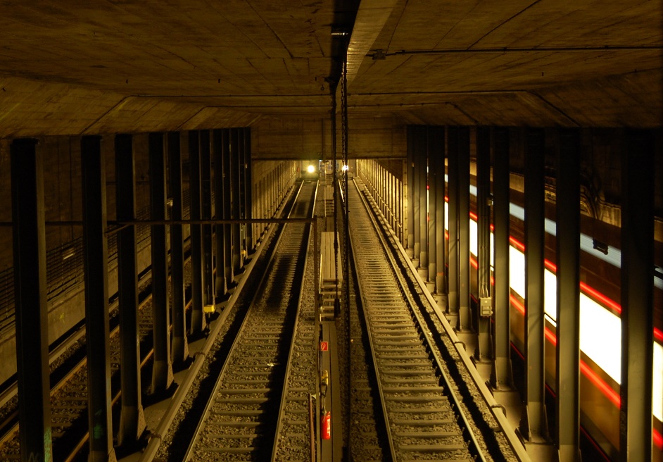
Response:
[{"label": "fourth dark steel column from the left edge, with flared base", "polygon": [[[150,210],[152,220],[166,218],[166,158],[163,133],[149,135]],[[172,385],[170,362],[170,306],[168,304],[168,227],[152,225],[152,393],[165,392]],[[106,298],[108,299],[108,298]]]}]

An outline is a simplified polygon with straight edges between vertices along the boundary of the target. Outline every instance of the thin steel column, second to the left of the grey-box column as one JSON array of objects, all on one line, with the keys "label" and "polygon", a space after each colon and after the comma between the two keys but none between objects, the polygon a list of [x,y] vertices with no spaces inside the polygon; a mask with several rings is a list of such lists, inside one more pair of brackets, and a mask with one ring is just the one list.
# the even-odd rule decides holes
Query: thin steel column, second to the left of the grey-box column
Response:
[{"label": "thin steel column, second to the left of the grey-box column", "polygon": [[[447,127],[449,196],[449,297],[448,310],[458,315],[458,127]],[[455,327],[455,324],[453,324]]]}]

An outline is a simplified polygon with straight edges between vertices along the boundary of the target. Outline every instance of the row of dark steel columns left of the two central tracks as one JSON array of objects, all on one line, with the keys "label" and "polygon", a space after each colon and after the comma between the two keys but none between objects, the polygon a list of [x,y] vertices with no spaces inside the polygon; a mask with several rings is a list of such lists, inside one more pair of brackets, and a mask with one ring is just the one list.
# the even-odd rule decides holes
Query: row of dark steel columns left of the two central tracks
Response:
[{"label": "row of dark steel columns left of the two central tracks", "polygon": [[[151,220],[186,218],[182,188],[186,179],[182,175],[180,139],[179,132],[149,134]],[[251,219],[250,130],[194,130],[188,132],[188,142],[190,218]],[[101,143],[99,136],[81,138],[89,461],[115,459],[108,337],[107,240],[112,231],[108,229],[106,216],[106,162]],[[117,231],[122,391],[118,441],[125,445],[137,442],[146,423],[141,404],[141,358],[137,342],[136,162],[132,135],[115,135],[114,145],[117,221],[125,224]],[[36,139],[15,139],[11,143],[16,351],[23,461],[48,461],[53,457],[43,156]],[[280,175],[279,180],[285,176]],[[274,197],[270,207],[276,202]],[[266,210],[258,209],[260,213]],[[244,229],[239,223],[215,225],[216,246],[213,246],[212,225],[190,225],[193,300],[191,324],[187,327],[184,226],[187,225],[151,225],[154,347],[151,393],[156,395],[168,393],[172,387],[173,365],[179,367],[187,361],[187,336],[201,335],[205,330],[203,304],[214,305],[227,293],[254,246],[251,226]],[[169,298],[169,290],[172,298]]]}]

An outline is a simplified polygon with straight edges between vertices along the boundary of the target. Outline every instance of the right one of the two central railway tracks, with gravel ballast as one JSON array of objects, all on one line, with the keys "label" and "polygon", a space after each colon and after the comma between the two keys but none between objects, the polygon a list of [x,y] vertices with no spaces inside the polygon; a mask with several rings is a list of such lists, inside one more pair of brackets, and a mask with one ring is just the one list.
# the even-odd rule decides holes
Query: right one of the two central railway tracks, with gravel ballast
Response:
[{"label": "right one of the two central railway tracks, with gravel ballast", "polygon": [[[447,377],[443,356],[389,246],[351,188],[355,270],[384,424],[382,450],[392,461],[486,460]],[[379,420],[377,422],[380,423]]]}]

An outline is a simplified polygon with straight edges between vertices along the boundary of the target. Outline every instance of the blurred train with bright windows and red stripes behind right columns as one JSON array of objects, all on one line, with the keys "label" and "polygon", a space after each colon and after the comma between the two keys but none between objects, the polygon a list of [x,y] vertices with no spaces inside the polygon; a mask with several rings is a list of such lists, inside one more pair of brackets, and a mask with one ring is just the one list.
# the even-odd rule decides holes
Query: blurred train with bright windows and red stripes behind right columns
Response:
[{"label": "blurred train with bright windows and red stripes behind right columns", "polygon": [[[476,187],[470,187],[472,206],[476,202]],[[446,216],[448,208],[445,204]],[[512,346],[519,356],[524,351],[525,313],[525,256],[522,239],[524,208],[511,203],[510,235],[510,285],[511,285],[511,332]],[[448,219],[446,220],[448,223]],[[519,224],[514,227],[514,223]],[[492,228],[491,228],[492,229]],[[546,259],[545,259],[545,379],[549,392],[555,394],[555,346],[557,337],[556,300],[557,279],[555,277],[555,222],[545,219]],[[521,233],[521,235],[518,235]],[[514,236],[515,235],[515,236]],[[581,282],[580,295],[580,346],[581,346],[581,425],[591,439],[598,444],[607,456],[617,458],[619,450],[619,384],[621,382],[621,306],[619,299],[619,271],[621,252],[614,246],[597,246],[591,237],[581,234],[581,268],[585,280]],[[477,227],[476,214],[470,213],[470,252],[472,263],[472,298],[479,297],[477,286]],[[491,248],[493,234],[491,232]],[[491,268],[493,256],[491,255]],[[591,273],[591,274],[590,274]],[[662,318],[663,270],[655,268],[655,319]],[[609,295],[607,295],[607,294]],[[661,460],[663,448],[663,332],[654,330],[653,363],[653,444],[659,450],[654,460]],[[554,413],[552,409],[548,413]]]}]

